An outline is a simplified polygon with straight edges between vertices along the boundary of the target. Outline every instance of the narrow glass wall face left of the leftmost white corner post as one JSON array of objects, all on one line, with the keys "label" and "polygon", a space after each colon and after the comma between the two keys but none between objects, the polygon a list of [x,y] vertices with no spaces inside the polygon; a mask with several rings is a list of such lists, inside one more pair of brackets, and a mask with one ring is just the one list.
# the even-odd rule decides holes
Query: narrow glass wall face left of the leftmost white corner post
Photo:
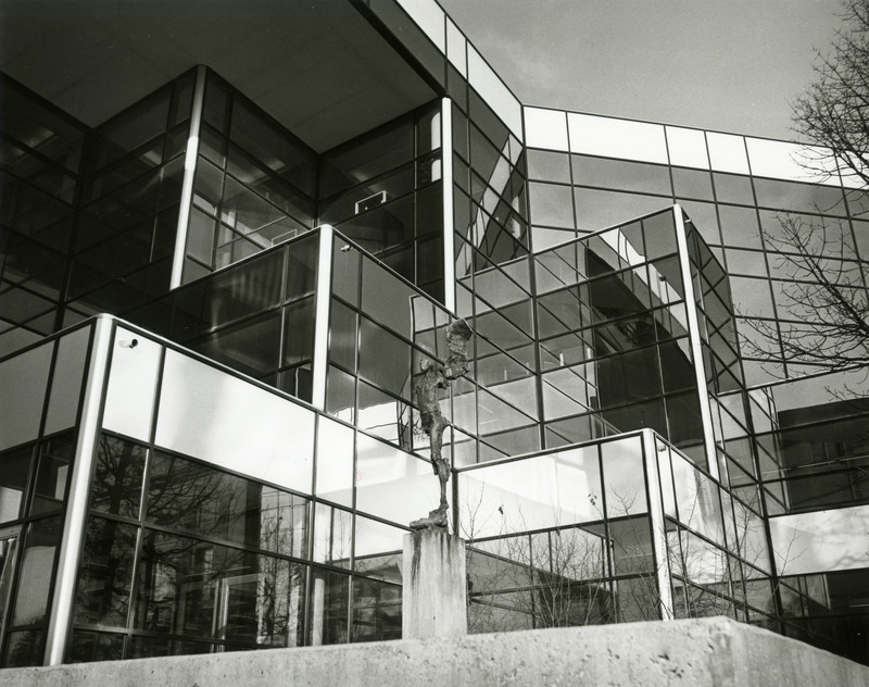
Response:
[{"label": "narrow glass wall face left of the leftmost white corner post", "polygon": [[0,362],[1,666],[42,663],[90,340],[80,327]]}]

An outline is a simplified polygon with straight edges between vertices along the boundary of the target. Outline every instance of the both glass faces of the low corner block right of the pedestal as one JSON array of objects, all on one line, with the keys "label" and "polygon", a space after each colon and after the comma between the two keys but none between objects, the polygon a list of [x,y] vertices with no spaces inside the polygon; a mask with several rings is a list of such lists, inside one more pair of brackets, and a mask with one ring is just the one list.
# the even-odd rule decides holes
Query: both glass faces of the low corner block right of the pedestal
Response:
[{"label": "both glass faces of the low corner block right of the pedestal", "polygon": [[763,522],[745,519],[727,490],[657,437],[459,470],[457,494],[470,542],[470,632],[663,613],[776,626],[769,573],[755,567],[769,558]]}]

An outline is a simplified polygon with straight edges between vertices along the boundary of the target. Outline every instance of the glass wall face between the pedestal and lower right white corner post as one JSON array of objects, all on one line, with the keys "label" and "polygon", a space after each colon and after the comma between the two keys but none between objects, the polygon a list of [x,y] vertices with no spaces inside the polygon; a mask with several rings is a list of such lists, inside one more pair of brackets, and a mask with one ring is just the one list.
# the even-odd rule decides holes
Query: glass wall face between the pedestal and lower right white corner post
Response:
[{"label": "glass wall face between the pedestal and lower right white corner post", "polygon": [[644,463],[634,434],[461,470],[469,632],[660,619]]}]

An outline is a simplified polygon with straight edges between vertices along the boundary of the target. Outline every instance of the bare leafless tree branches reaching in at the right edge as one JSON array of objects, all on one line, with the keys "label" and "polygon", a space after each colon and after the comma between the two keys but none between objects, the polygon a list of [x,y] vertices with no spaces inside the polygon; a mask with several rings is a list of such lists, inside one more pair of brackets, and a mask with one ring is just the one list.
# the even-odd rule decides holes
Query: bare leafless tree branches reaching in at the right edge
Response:
[{"label": "bare leafless tree branches reaching in at the right edge", "polygon": [[[869,0],[843,0],[841,16],[831,46],[817,51],[814,82],[793,107],[793,130],[806,143],[796,161],[815,180],[839,185],[842,177],[861,195],[869,188]],[[773,267],[791,280],[774,285],[778,327],[748,321],[759,336],[745,333],[747,352],[824,371],[869,370],[867,257],[854,259],[847,229],[836,221],[806,217],[782,213],[780,226],[766,233],[778,252]]]}]

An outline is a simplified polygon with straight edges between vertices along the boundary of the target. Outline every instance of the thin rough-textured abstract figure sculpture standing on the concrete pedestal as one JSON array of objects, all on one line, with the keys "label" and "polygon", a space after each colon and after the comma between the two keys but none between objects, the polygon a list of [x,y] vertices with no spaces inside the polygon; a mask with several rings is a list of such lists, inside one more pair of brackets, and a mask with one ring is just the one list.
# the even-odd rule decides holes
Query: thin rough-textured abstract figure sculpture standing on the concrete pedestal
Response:
[{"label": "thin rough-textured abstract figure sculpture standing on the concrete pedestal", "polygon": [[416,402],[419,404],[419,421],[429,437],[431,447],[431,466],[441,483],[440,505],[430,511],[428,517],[420,517],[411,523],[411,529],[427,527],[446,527],[446,483],[450,479],[450,461],[442,455],[443,430],[449,424],[441,414],[439,389],[445,389],[453,379],[468,372],[468,342],[474,335],[464,320],[456,320],[446,327],[446,348],[450,355],[446,364],[436,366],[428,358],[419,363],[423,376],[416,384]]}]

